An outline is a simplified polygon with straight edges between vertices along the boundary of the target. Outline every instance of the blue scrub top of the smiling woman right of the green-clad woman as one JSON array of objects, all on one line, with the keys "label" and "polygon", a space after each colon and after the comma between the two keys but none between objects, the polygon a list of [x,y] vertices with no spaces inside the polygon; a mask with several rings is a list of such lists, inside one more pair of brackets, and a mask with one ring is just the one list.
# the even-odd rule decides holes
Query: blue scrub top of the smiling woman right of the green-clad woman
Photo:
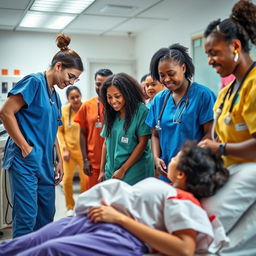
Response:
[{"label": "blue scrub top of the smiling woman right of the green-clad woman", "polygon": [[[146,119],[146,124],[153,129],[155,129],[168,92],[169,90],[166,89],[158,93],[153,99]],[[181,145],[187,139],[200,141],[204,136],[203,124],[213,120],[213,105],[216,96],[209,88],[194,82],[189,87],[187,97],[187,105],[181,115],[180,123],[175,123],[175,121],[177,121],[186,103],[186,95],[177,105],[170,95],[160,121],[162,130],[158,130],[158,134],[161,159],[164,160],[166,166],[171,158],[176,156]]]}]

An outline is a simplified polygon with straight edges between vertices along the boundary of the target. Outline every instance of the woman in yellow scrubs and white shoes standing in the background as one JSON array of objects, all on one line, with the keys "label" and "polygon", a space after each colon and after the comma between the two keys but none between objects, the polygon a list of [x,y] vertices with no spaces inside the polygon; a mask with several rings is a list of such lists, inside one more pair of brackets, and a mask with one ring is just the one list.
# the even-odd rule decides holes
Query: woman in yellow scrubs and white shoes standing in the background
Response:
[{"label": "woman in yellow scrubs and white shoes standing in the background", "polygon": [[58,138],[63,157],[63,189],[66,200],[67,217],[74,215],[73,208],[73,177],[75,167],[78,167],[80,178],[80,192],[86,190],[86,175],[83,172],[83,158],[80,150],[79,134],[80,126],[75,123],[74,116],[82,105],[81,92],[78,87],[70,86],[66,91],[69,104],[62,108],[62,123],[59,127]]}]

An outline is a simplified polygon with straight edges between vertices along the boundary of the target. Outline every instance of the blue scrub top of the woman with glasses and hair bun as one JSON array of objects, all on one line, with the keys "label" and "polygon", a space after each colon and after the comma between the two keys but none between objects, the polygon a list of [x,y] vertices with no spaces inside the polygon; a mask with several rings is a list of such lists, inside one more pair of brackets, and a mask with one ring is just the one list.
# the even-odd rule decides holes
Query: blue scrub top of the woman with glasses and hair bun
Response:
[{"label": "blue scrub top of the woman with glasses and hair bun", "polygon": [[15,117],[24,138],[34,148],[23,158],[20,148],[9,137],[5,146],[3,168],[9,169],[14,161],[23,162],[26,166],[36,165],[40,175],[49,177],[49,182],[52,183],[53,146],[58,126],[62,124],[59,95],[56,91],[50,92],[43,73],[24,77],[8,93],[8,97],[17,94],[22,95],[26,104]]}]

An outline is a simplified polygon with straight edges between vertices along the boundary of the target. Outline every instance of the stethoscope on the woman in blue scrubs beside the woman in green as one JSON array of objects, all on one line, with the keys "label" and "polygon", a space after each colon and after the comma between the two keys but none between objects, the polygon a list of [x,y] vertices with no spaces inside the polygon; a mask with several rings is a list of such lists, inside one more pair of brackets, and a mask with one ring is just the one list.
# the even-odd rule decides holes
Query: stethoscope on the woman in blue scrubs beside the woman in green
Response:
[{"label": "stethoscope on the woman in blue scrubs beside the woman in green", "polygon": [[[188,106],[188,90],[189,90],[189,87],[190,87],[190,84],[189,84],[188,87],[187,87],[185,99],[180,100],[179,103],[178,103],[178,105],[177,105],[177,107],[176,107],[175,113],[174,113],[174,115],[173,115],[173,120],[172,120],[172,122],[173,122],[174,124],[180,124],[180,123],[181,123],[181,122],[180,122],[180,119],[181,119],[181,117],[182,117],[182,114],[184,113],[186,107]],[[162,127],[160,126],[160,122],[161,122],[161,120],[162,120],[162,116],[163,116],[165,107],[166,107],[166,105],[167,105],[167,101],[168,101],[168,99],[169,99],[169,97],[170,97],[171,94],[172,94],[172,91],[169,91],[168,94],[165,96],[163,106],[162,106],[162,108],[161,108],[160,114],[159,114],[158,119],[157,119],[157,124],[155,125],[155,129],[158,130],[158,131],[161,131],[161,130],[162,130]],[[176,120],[175,120],[176,112],[177,112],[178,109],[180,109],[181,106],[183,106],[183,107],[182,107],[180,113],[178,114],[178,116],[177,116],[177,118],[176,118]]]}]

